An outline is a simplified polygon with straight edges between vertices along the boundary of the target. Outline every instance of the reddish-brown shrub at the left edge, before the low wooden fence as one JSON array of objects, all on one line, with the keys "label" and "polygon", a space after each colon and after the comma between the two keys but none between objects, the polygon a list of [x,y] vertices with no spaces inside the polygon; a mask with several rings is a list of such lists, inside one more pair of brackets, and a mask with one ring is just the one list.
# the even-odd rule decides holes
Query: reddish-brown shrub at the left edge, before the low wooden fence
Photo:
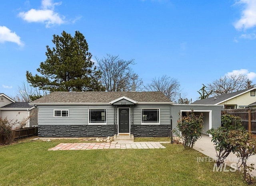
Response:
[{"label": "reddish-brown shrub at the left edge, before the low wooden fence", "polygon": [[4,144],[9,144],[12,142],[12,126],[7,118],[2,119],[0,117],[0,139],[4,142]]}]

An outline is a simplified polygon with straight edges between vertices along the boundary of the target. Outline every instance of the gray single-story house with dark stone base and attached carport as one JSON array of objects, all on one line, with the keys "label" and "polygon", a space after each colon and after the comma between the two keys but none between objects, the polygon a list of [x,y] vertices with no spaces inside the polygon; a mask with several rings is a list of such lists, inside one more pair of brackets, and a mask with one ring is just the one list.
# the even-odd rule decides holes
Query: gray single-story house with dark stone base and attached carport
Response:
[{"label": "gray single-story house with dark stone base and attached carport", "polygon": [[221,125],[222,106],[174,105],[162,92],[52,92],[38,108],[39,137],[167,137],[180,112],[205,116],[204,133]]}]

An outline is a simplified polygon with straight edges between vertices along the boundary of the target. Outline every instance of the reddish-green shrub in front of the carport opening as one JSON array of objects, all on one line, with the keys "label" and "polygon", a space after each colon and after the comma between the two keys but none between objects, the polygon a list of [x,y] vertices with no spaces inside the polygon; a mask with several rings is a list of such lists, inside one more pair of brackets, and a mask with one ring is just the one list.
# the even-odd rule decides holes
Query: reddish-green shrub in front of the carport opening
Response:
[{"label": "reddish-green shrub in front of the carport opening", "polygon": [[181,132],[181,139],[184,148],[193,147],[201,137],[203,128],[203,114],[195,115],[193,110],[186,112],[186,116],[181,116],[177,121],[177,127]]}]

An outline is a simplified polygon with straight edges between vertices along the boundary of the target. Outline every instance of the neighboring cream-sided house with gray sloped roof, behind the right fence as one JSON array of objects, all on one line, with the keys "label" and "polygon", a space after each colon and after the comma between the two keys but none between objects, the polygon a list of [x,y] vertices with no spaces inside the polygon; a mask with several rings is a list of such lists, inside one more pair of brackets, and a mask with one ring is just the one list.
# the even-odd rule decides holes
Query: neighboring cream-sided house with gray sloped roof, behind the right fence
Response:
[{"label": "neighboring cream-sided house with gray sloped roof, behind the right fence", "polygon": [[256,88],[240,90],[229,94],[214,96],[197,100],[192,104],[197,105],[224,105],[225,109],[252,108],[256,107]]}]

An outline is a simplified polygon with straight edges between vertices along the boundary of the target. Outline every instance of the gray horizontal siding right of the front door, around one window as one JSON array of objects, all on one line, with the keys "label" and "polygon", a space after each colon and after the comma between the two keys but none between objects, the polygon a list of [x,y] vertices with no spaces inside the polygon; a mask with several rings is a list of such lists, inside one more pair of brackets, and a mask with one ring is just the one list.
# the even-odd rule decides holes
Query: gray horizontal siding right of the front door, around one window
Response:
[{"label": "gray horizontal siding right of the front door, around one window", "polygon": [[170,125],[170,105],[135,105],[134,125],[141,125],[142,109],[160,109],[160,125]]}]

